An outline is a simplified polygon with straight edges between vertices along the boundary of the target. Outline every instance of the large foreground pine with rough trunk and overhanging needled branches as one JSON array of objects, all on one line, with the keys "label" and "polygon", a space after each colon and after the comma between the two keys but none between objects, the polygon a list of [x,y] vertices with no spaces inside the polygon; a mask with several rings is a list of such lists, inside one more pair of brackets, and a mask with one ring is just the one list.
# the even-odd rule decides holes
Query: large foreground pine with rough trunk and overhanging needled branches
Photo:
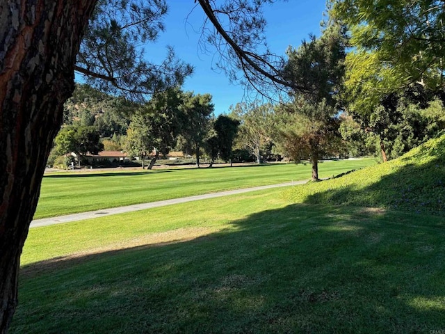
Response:
[{"label": "large foreground pine with rough trunk and overhanging needled branches", "polygon": [[[208,18],[203,40],[218,46],[234,68],[247,73],[248,81],[292,85],[280,78],[280,61],[258,51],[266,24],[261,6],[271,2],[198,0]],[[17,305],[20,253],[63,120],[63,104],[74,90],[74,70],[92,86],[134,99],[181,84],[191,73],[171,49],[161,64],[144,60],[140,46],[163,30],[166,5],[166,0],[1,4],[0,333],[6,332]]]}]

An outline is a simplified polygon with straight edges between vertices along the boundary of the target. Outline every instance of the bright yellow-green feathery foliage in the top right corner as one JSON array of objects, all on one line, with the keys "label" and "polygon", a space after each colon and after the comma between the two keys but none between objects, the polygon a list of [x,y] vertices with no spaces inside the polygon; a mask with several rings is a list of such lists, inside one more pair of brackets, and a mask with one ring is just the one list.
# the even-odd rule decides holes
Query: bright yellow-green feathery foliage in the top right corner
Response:
[{"label": "bright yellow-green feathery foliage in the top right corner", "polygon": [[331,0],[330,15],[350,31],[348,86],[359,106],[410,84],[444,87],[444,1]]}]

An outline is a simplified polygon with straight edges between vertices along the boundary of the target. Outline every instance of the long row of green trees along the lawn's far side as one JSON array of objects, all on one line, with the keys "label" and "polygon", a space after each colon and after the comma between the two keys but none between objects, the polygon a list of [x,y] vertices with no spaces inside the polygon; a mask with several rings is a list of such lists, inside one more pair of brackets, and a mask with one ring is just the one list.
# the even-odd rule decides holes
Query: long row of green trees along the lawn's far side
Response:
[{"label": "long row of green trees along the lawn's far side", "polygon": [[[339,16],[334,9],[332,13],[332,17]],[[94,123],[103,138],[113,134],[104,141],[108,147],[120,145],[133,157],[140,157],[143,164],[146,157],[151,157],[149,168],[159,154],[166,155],[175,148],[195,155],[197,166],[202,153],[209,157],[210,166],[218,157],[232,161],[252,155],[258,164],[264,159],[309,159],[312,180],[318,180],[319,159],[373,154],[387,161],[444,129],[445,95],[439,88],[407,82],[402,88],[386,86],[386,93],[351,93],[357,89],[357,81],[351,78],[363,70],[357,67],[357,61],[351,61],[357,57],[357,49],[347,51],[355,40],[340,19],[322,24],[320,37],[309,36],[299,47],[286,50],[282,77],[298,85],[286,89],[286,100],[240,103],[232,106],[227,116],[215,119],[210,95],[195,96],[170,88],[145,104],[136,104],[104,95],[88,85],[78,86],[65,105],[67,122],[78,117],[78,129],[64,127],[56,137],[56,147],[66,148],[68,134],[74,143],[82,134],[83,143],[88,143],[86,137],[96,140],[98,137],[89,132]],[[87,103],[95,111],[84,108],[77,111],[77,116],[70,116],[78,100],[83,104],[95,102]],[[93,113],[104,109],[108,112],[95,119]],[[115,137],[125,140],[117,143]],[[101,145],[90,144],[90,152]],[[82,155],[86,145],[72,150]]]}]

